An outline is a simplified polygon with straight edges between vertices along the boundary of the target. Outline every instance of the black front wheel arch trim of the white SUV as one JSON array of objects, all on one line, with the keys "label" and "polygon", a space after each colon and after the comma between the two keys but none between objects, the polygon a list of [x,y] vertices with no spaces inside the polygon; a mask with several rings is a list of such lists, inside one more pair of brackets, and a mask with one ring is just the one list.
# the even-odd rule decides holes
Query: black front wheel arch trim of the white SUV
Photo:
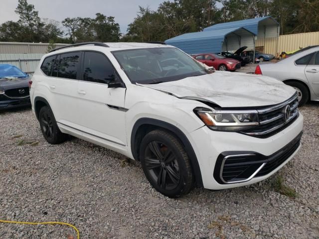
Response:
[{"label": "black front wheel arch trim of the white SUV", "polygon": [[194,149],[186,135],[176,126],[159,119],[142,118],[138,119],[132,129],[131,134],[131,151],[135,160],[140,161],[139,145],[143,137],[154,129],[164,129],[171,132],[182,143],[187,155],[189,156],[196,184],[203,187],[200,167]]}]

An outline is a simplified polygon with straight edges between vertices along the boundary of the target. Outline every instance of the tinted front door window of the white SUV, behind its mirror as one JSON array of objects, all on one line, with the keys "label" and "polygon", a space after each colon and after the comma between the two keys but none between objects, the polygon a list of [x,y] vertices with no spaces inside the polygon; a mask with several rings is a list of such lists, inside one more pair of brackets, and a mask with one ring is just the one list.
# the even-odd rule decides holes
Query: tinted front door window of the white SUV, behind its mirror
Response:
[{"label": "tinted front door window of the white SUV, behind its mirror", "polygon": [[105,55],[97,52],[85,52],[83,80],[107,84],[115,80],[115,71]]}]

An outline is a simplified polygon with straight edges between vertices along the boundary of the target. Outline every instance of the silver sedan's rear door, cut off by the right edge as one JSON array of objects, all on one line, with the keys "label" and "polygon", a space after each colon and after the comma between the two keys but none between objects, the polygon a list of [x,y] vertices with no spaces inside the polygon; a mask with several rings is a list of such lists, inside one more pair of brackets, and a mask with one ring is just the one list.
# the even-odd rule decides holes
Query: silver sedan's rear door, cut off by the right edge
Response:
[{"label": "silver sedan's rear door, cut off by the right edge", "polygon": [[305,75],[316,96],[319,96],[319,51],[313,55],[306,66]]}]

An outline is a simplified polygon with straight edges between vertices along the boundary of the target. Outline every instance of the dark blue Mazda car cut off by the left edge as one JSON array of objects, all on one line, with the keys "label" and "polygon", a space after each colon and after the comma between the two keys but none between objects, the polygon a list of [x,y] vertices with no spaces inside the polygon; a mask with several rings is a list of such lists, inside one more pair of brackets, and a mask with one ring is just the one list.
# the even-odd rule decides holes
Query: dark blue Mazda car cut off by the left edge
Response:
[{"label": "dark blue Mazda car cut off by the left edge", "polygon": [[30,106],[28,74],[9,64],[0,64],[0,110]]}]

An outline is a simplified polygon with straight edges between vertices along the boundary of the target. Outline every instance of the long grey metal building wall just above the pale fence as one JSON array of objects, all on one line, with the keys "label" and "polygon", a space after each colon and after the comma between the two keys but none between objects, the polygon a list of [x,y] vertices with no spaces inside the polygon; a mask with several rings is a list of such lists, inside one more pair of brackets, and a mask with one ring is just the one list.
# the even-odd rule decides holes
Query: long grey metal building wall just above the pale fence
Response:
[{"label": "long grey metal building wall just above the pale fence", "polygon": [[[55,44],[55,47],[68,44]],[[0,42],[0,54],[46,53],[49,43]]]}]

